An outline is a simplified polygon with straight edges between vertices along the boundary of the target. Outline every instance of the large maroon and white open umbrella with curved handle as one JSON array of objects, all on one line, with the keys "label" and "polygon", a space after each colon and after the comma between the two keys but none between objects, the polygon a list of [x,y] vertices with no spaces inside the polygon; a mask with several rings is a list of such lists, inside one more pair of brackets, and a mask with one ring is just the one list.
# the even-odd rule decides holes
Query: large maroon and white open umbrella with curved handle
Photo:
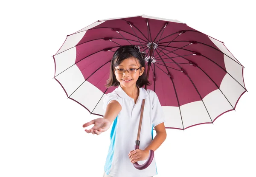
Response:
[{"label": "large maroon and white open umbrella with curved handle", "polygon": [[[212,124],[220,115],[235,110],[247,91],[244,66],[224,43],[178,20],[139,15],[98,20],[67,35],[58,52],[54,78],[68,98],[90,114],[104,116],[103,99],[116,87],[106,89],[113,53],[122,45],[135,45],[145,56],[146,75],[163,107],[165,126],[187,129]],[[145,86],[145,90],[147,86]],[[139,148],[140,125],[135,143]],[[135,168],[145,169],[148,160]]]}]

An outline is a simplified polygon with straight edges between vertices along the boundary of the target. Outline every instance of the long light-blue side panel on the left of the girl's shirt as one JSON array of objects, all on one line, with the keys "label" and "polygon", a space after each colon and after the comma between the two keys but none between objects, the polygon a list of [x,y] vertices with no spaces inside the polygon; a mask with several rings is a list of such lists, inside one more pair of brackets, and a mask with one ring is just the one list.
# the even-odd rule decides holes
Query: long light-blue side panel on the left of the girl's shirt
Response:
[{"label": "long light-blue side panel on the left of the girl's shirt", "polygon": [[105,166],[104,166],[105,173],[108,174],[108,175],[109,175],[111,165],[112,165],[112,162],[113,162],[113,155],[114,155],[114,150],[115,150],[114,147],[115,147],[115,141],[116,141],[117,117],[118,116],[116,116],[115,120],[113,121],[113,126],[112,126],[111,133],[110,133],[111,143],[110,143],[110,146],[109,146],[109,149],[108,149],[108,155],[107,155],[106,163],[105,163]]}]

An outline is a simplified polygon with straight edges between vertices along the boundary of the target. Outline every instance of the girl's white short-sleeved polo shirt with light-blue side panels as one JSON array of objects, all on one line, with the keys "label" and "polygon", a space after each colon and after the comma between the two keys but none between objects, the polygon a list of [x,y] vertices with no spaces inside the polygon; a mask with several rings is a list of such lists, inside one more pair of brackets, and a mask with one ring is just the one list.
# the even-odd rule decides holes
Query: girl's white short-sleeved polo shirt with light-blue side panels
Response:
[{"label": "girl's white short-sleeved polo shirt with light-blue side panels", "polygon": [[[128,154],[134,150],[137,139],[141,105],[144,98],[145,106],[140,132],[140,149],[145,149],[153,140],[153,127],[165,122],[163,108],[160,105],[157,94],[153,90],[139,88],[138,100],[134,105],[134,99],[129,97],[119,85],[112,93],[104,97],[103,109],[106,110],[111,100],[121,104],[122,110],[113,121],[111,129],[111,144],[105,163],[105,173],[112,177],[151,177],[157,174],[155,157],[148,168],[136,169],[131,163]],[[141,165],[146,160],[139,161]]]}]

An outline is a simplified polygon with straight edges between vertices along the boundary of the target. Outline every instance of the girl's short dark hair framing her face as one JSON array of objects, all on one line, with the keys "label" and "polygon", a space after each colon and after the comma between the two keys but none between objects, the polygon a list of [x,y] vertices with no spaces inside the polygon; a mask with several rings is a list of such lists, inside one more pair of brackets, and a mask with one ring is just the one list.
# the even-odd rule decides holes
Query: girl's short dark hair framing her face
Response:
[{"label": "girl's short dark hair framing her face", "polygon": [[[115,53],[113,54],[113,57],[111,59],[111,66],[110,66],[110,73],[109,78],[107,80],[107,84],[105,84],[105,87],[109,88],[111,86],[119,86],[119,81],[116,80],[116,76],[113,73],[116,66],[120,65],[123,60],[128,58],[135,58],[140,63],[140,67],[145,68],[145,61],[143,56],[134,49],[134,45],[123,45],[119,47]],[[148,81],[147,76],[145,74],[145,70],[141,76],[139,76],[136,85],[140,88],[144,85],[151,85],[151,82]]]}]

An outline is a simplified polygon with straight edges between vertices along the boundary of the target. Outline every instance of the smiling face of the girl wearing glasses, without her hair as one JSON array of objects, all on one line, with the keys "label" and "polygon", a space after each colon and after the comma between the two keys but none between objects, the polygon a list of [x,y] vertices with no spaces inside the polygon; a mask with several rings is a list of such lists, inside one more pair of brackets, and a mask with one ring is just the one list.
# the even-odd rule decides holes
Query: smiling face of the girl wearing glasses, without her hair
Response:
[{"label": "smiling face of the girl wearing glasses, without her hair", "polygon": [[[116,80],[119,81],[121,86],[131,87],[134,85],[136,86],[136,82],[139,79],[139,76],[141,76],[144,72],[144,67],[141,67],[139,70],[136,71],[136,73],[128,73],[127,69],[138,69],[139,67],[140,63],[137,61],[137,59],[131,57],[123,60],[122,63],[120,63],[120,65],[115,67],[115,69],[125,69],[125,73],[116,73],[116,70],[113,70],[113,72],[116,76]],[[127,81],[130,79],[131,81]]]}]

